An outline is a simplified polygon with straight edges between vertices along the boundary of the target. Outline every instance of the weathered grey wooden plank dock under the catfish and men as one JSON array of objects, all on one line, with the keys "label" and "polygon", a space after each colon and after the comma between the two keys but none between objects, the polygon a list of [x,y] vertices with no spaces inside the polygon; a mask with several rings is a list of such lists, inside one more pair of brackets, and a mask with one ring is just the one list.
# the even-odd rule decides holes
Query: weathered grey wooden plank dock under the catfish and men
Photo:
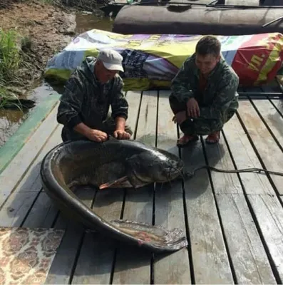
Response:
[{"label": "weathered grey wooden plank dock under the catfish and men", "polygon": [[[168,95],[168,90],[126,94],[136,140],[181,155],[187,170],[201,165],[283,170],[283,103],[277,96],[242,95],[218,145],[202,138],[179,152]],[[200,170],[185,183],[136,192],[81,191],[81,199],[106,219],[180,227],[189,243],[166,256],[117,247],[63,217],[41,188],[41,160],[61,142],[57,107],[0,175],[1,227],[65,229],[46,284],[282,284],[283,177]]]}]

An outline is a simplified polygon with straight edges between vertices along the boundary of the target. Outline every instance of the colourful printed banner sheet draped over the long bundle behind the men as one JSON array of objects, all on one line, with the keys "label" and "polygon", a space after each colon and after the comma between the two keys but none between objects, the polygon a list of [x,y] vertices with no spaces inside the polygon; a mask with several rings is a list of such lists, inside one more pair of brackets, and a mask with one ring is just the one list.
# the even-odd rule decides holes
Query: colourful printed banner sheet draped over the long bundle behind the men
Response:
[{"label": "colourful printed banner sheet draped over the long bundle behind the men", "polygon": [[[124,90],[168,88],[182,62],[195,52],[195,35],[122,35],[93,29],[73,39],[51,58],[46,78],[66,81],[86,56],[97,56],[113,48],[123,56]],[[240,77],[241,86],[268,83],[282,66],[283,35],[262,33],[245,36],[217,36],[222,56]]]}]

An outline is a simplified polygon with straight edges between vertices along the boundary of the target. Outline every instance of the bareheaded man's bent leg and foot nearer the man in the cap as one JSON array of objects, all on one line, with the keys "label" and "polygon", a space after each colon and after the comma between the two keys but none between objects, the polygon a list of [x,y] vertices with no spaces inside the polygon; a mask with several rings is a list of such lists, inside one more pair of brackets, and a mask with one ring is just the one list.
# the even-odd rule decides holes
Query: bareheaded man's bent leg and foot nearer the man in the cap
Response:
[{"label": "bareheaded man's bent leg and foot nearer the man in the cap", "polygon": [[[169,96],[169,103],[174,115],[181,112],[184,116],[186,116],[187,104],[185,102],[180,102],[177,100],[173,93],[171,93]],[[198,136],[194,133],[191,119],[185,120],[179,126],[184,135],[179,140],[177,140],[177,147],[184,147],[188,143],[198,140]]]}]

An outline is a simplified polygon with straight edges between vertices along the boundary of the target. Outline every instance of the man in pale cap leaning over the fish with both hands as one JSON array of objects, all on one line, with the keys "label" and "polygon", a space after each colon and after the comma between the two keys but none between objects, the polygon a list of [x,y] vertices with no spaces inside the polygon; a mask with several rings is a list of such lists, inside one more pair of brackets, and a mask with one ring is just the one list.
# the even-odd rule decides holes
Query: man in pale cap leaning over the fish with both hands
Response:
[{"label": "man in pale cap leaning over the fish with both hands", "polygon": [[[58,106],[57,120],[63,124],[62,140],[88,138],[104,142],[108,135],[128,140],[133,134],[125,125],[128,102],[122,92],[123,57],[103,50],[98,58],[86,57],[66,83]],[[109,113],[111,106],[112,113]]]}]

